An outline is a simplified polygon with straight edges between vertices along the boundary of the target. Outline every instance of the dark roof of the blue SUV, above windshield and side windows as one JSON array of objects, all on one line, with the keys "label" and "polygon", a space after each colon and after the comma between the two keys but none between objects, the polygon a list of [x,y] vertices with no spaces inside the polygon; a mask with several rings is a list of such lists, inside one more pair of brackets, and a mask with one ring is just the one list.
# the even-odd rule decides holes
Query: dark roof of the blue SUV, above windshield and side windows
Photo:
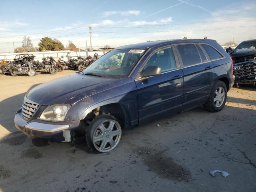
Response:
[{"label": "dark roof of the blue SUV, above windshield and side windows", "polygon": [[209,42],[216,42],[216,40],[212,39],[174,39],[174,40],[157,40],[157,41],[148,41],[148,42],[142,42],[138,44],[130,44],[130,45],[124,45],[115,48],[116,49],[148,49],[155,46],[160,46],[163,44],[177,44],[177,43],[209,43]]}]

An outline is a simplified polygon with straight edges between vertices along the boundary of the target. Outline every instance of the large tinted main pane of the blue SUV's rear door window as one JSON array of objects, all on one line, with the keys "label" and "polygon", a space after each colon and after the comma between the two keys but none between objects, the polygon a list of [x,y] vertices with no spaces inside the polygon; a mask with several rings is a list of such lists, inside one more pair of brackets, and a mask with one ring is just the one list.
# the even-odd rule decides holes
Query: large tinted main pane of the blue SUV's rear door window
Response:
[{"label": "large tinted main pane of the blue SUV's rear door window", "polygon": [[184,67],[201,63],[200,55],[194,44],[177,45],[176,47]]}]

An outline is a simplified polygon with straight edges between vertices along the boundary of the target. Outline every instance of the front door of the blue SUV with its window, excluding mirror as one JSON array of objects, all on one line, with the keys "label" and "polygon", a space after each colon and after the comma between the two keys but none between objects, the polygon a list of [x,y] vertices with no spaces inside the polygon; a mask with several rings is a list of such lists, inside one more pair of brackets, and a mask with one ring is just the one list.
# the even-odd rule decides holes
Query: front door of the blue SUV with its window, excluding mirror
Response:
[{"label": "front door of the blue SUV with its window, excluding mirror", "polygon": [[[172,47],[153,51],[136,77],[139,124],[159,116],[180,112],[183,100],[183,73]],[[148,66],[158,66],[160,75],[144,78]]]}]

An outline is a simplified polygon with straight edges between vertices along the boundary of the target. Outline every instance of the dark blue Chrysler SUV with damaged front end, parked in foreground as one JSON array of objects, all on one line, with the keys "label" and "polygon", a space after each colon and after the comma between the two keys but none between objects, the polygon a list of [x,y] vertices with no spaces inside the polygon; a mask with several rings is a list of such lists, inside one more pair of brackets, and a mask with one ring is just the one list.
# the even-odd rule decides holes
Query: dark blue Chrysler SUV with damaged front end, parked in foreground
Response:
[{"label": "dark blue Chrysler SUV with damaged front end, parked in foreground", "polygon": [[83,72],[30,90],[15,126],[30,138],[70,142],[78,134],[99,152],[122,128],[199,105],[220,111],[234,84],[232,60],[215,40],[163,40],[116,48]]}]

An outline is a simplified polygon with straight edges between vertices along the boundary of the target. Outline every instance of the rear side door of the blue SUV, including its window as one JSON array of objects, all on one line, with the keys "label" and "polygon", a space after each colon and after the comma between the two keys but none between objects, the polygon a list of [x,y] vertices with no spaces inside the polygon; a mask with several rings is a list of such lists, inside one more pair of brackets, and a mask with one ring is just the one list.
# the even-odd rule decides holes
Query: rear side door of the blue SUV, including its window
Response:
[{"label": "rear side door of the blue SUV, including its window", "polygon": [[206,102],[214,78],[214,66],[198,44],[181,44],[175,47],[184,74],[184,111]]}]

